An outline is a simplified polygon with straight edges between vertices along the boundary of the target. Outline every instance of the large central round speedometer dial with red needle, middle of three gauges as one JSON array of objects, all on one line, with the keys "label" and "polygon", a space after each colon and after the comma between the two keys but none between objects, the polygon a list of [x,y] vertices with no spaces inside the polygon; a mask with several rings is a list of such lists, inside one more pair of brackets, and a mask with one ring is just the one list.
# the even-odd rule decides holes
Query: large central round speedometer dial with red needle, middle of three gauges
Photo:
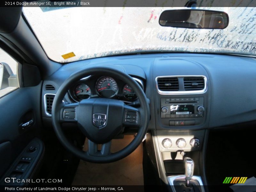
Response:
[{"label": "large central round speedometer dial with red needle, middle of three gauges", "polygon": [[111,98],[114,97],[118,91],[116,81],[109,76],[102,76],[96,83],[96,90],[100,96]]}]

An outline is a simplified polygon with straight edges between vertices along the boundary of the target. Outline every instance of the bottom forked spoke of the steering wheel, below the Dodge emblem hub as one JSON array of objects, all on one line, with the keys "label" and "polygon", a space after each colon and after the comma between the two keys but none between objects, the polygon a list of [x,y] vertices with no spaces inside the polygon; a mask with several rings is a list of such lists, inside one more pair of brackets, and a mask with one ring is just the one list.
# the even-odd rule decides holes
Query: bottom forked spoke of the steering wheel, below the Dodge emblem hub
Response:
[{"label": "bottom forked spoke of the steering wheel, below the Dodge emblem hub", "polygon": [[101,145],[101,150],[98,150],[98,144],[88,140],[88,154],[90,156],[108,156],[110,155],[111,141]]}]

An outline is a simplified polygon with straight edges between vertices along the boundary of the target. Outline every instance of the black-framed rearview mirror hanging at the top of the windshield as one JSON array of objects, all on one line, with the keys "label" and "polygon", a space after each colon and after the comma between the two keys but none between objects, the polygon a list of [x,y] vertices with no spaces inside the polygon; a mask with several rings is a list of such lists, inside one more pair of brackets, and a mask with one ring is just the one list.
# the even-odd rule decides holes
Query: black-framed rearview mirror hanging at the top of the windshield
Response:
[{"label": "black-framed rearview mirror hanging at the top of the windshield", "polygon": [[228,14],[198,9],[166,10],[161,13],[159,24],[164,27],[224,29],[228,26]]}]

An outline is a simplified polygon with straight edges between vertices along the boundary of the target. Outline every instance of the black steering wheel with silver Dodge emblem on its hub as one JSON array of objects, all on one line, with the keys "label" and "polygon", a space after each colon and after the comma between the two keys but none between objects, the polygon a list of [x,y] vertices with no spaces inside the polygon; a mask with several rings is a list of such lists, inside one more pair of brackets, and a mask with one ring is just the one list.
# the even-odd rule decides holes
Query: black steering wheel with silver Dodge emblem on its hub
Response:
[{"label": "black steering wheel with silver Dodge emblem on its hub", "polygon": [[[107,98],[91,98],[79,103],[64,105],[62,100],[68,89],[76,81],[85,76],[103,74],[121,79],[129,84],[140,100],[140,108],[124,104],[123,101]],[[65,115],[69,115],[65,118]],[[135,119],[135,120],[132,120]],[[73,73],[57,91],[52,104],[52,124],[62,145],[74,155],[92,163],[109,163],[131,154],[142,142],[148,128],[149,106],[147,98],[140,85],[123,71],[110,67],[90,67]],[[62,123],[76,123],[82,133],[88,138],[88,151],[76,148],[65,137]],[[138,133],[122,150],[111,153],[111,140],[118,135],[123,127],[138,128]],[[98,150],[98,144],[102,144]]]}]

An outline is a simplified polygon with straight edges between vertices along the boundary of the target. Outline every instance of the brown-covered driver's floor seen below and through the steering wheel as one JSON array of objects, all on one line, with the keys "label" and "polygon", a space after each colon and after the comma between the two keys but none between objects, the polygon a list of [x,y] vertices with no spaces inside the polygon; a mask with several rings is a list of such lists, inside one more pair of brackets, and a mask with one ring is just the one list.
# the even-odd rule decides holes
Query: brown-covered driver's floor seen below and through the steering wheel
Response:
[{"label": "brown-covered driver's floor seen below and through the steering wheel", "polygon": [[[111,143],[111,152],[125,148],[134,135],[124,135],[124,139],[115,139]],[[88,148],[85,140],[84,150]],[[143,146],[119,161],[107,164],[95,164],[81,160],[72,185],[144,185]]]}]

